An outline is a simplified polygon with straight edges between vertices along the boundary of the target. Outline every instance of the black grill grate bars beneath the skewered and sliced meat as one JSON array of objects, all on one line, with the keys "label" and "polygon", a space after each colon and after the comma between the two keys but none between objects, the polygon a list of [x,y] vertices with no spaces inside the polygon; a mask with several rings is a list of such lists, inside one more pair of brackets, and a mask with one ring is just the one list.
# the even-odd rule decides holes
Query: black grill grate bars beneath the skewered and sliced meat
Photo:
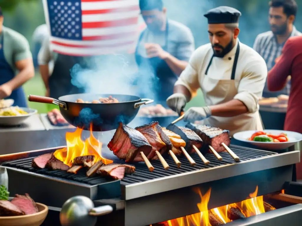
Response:
[{"label": "black grill grate bars beneath the skewered and sliced meat", "polygon": [[[261,151],[251,148],[245,148],[245,147],[239,147],[239,146],[230,146],[232,151],[238,155],[240,158],[240,162],[244,162],[251,159],[257,159],[261,157],[265,157],[268,155],[274,155],[277,154],[275,152],[268,152],[268,151]],[[177,168],[175,165],[173,159],[170,156],[167,156],[165,158],[166,162],[169,164],[170,168],[169,170],[163,169],[161,163],[159,160],[152,161],[151,164],[154,166],[154,171],[149,172],[148,168],[144,163],[137,163],[135,164],[136,170],[135,173],[130,175],[125,175],[124,179],[122,179],[121,184],[127,185],[127,184],[133,184],[138,182],[143,182],[147,180],[153,180],[160,177],[165,176],[171,176],[175,174],[185,173],[185,172],[191,172],[199,169],[206,169],[206,168],[213,168],[216,166],[226,165],[226,164],[232,164],[234,163],[233,158],[227,153],[222,152],[219,153],[222,157],[222,161],[219,161],[215,158],[213,154],[207,154],[205,155],[206,159],[210,161],[209,165],[204,165],[204,163],[201,161],[199,156],[197,154],[191,155],[191,157],[196,162],[195,166],[191,166],[188,160],[185,158],[185,156],[178,156],[177,158],[182,163],[180,168]],[[60,170],[49,170],[49,169],[40,169],[37,170],[33,167],[31,167],[31,161],[34,159],[34,157],[27,158],[27,159],[18,159],[14,161],[8,161],[4,162],[2,165],[12,168],[19,168],[26,171],[34,172],[37,174],[44,174],[52,177],[59,177],[67,180],[73,180],[80,183],[85,183],[89,185],[98,185],[103,184],[109,181],[112,181],[108,178],[95,176],[95,177],[86,177],[86,170],[85,168],[82,168],[79,170],[77,174],[67,173],[66,171],[60,171]]]}]

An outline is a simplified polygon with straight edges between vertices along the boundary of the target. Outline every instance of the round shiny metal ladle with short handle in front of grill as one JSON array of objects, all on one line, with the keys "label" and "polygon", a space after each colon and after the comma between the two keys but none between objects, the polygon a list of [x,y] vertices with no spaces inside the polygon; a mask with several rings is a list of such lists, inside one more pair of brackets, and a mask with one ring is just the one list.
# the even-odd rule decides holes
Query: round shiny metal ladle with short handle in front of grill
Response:
[{"label": "round shiny metal ladle with short handle in front of grill", "polygon": [[94,207],[92,200],[88,197],[74,196],[63,204],[60,222],[62,226],[94,226],[98,216],[109,214],[112,211],[112,206]]}]

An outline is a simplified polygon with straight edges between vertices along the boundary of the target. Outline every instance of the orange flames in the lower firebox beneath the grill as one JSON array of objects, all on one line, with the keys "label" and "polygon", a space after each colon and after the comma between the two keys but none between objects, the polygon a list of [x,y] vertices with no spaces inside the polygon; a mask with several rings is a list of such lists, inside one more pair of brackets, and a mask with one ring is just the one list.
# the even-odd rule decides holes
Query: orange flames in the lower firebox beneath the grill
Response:
[{"label": "orange flames in the lower firebox beneath the grill", "polygon": [[208,210],[207,206],[210,199],[211,189],[209,189],[204,195],[201,194],[199,189],[197,189],[195,192],[201,197],[201,202],[197,204],[200,213],[169,220],[167,221],[169,226],[211,226],[211,219],[213,218],[216,218],[223,224],[226,224],[232,221],[229,215],[231,208],[236,208],[245,217],[258,215],[265,212],[263,196],[257,197],[258,186],[256,187],[255,192],[249,194],[249,199],[210,210]]}]

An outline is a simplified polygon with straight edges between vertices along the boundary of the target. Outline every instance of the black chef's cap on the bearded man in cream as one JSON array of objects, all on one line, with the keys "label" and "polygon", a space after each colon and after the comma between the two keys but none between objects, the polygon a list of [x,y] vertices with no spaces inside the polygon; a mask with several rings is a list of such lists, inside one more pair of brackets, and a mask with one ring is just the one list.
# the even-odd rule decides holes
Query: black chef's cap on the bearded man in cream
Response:
[{"label": "black chef's cap on the bearded man in cream", "polygon": [[220,6],[204,14],[208,24],[234,24],[239,23],[241,12],[229,6]]}]

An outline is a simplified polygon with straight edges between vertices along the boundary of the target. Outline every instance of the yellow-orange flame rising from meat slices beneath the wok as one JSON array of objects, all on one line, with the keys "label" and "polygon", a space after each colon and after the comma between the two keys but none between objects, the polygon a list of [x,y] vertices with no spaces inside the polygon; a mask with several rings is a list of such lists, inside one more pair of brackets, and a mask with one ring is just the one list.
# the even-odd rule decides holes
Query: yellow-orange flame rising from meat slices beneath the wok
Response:
[{"label": "yellow-orange flame rising from meat slices beneath the wok", "polygon": [[54,156],[69,166],[72,166],[74,158],[85,155],[94,155],[95,162],[102,160],[104,164],[112,163],[112,160],[102,157],[102,143],[93,136],[91,128],[90,136],[85,141],[81,138],[82,131],[82,129],[76,128],[74,132],[66,132],[67,147],[56,150]]}]

